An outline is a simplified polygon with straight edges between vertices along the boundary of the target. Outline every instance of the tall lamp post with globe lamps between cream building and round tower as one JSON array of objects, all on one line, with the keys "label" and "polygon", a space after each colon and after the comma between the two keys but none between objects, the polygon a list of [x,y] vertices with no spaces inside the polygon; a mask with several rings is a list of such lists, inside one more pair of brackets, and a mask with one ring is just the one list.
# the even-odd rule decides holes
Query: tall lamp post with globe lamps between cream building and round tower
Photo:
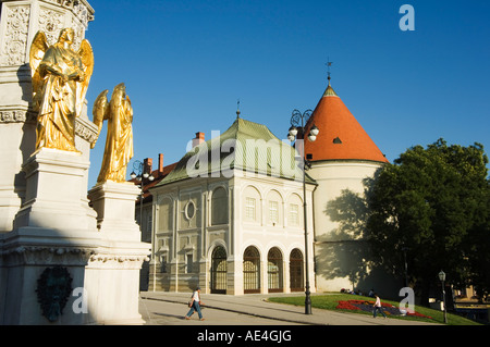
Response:
[{"label": "tall lamp post with globe lamps between cream building and round tower", "polygon": [[[301,136],[303,140],[302,149],[299,154],[302,156],[302,169],[303,169],[303,214],[304,214],[304,223],[305,223],[305,261],[306,261],[306,283],[305,283],[305,314],[311,314],[311,298],[309,292],[309,264],[308,264],[308,224],[307,224],[307,212],[306,212],[306,168],[308,166],[308,162],[305,158],[305,122],[311,116],[313,111],[306,110],[304,113],[301,113],[298,110],[294,110],[291,116],[291,127],[287,134],[287,139],[290,141],[294,141],[297,136]],[[299,129],[298,129],[299,127]],[[308,139],[310,141],[315,141],[317,139],[317,135],[320,131],[315,125],[311,127],[308,134]],[[298,134],[299,133],[299,134]],[[297,149],[297,147],[296,147]]]}]

